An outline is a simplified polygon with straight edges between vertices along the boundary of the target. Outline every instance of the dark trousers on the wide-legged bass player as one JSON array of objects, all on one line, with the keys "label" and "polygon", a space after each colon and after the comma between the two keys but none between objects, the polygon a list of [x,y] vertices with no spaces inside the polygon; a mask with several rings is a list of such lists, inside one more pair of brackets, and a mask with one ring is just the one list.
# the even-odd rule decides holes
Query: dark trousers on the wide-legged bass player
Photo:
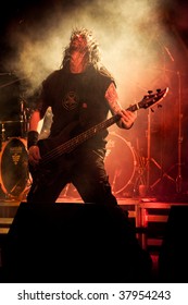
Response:
[{"label": "dark trousers on the wide-legged bass player", "polygon": [[67,183],[73,183],[85,203],[116,206],[104,169],[104,149],[75,150],[33,176],[28,203],[54,203]]}]

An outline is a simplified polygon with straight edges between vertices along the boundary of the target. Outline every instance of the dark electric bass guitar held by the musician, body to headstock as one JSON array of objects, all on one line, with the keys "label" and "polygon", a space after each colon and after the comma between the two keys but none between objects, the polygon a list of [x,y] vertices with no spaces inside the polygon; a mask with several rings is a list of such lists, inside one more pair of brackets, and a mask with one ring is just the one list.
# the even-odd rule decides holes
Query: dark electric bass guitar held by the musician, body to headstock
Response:
[{"label": "dark electric bass guitar held by the musician, body to headstock", "polygon": [[[166,96],[167,91],[168,91],[167,87],[163,90],[158,89],[156,93],[149,91],[149,94],[143,96],[143,98],[138,103],[128,107],[126,110],[137,111],[141,108],[148,109],[149,107],[159,103]],[[67,141],[66,139],[64,141],[64,133],[65,133],[64,130],[57,137],[52,139],[51,138],[39,139],[37,144],[39,146],[40,155],[41,155],[39,167],[45,168],[47,167],[48,163],[54,161],[60,156],[73,151],[80,144],[91,138],[102,130],[105,130],[111,125],[113,125],[114,123],[118,122],[118,120],[121,120],[121,115],[114,114],[110,119],[90,127],[89,130]]]}]

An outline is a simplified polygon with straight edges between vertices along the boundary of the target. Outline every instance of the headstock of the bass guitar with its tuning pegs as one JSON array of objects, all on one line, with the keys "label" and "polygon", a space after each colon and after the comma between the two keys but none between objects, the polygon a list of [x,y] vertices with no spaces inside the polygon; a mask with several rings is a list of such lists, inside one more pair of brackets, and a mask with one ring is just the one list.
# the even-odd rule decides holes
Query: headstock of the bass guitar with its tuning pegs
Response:
[{"label": "headstock of the bass guitar with its tuning pegs", "polygon": [[155,93],[148,91],[149,94],[146,95],[142,98],[142,100],[138,102],[138,107],[147,109],[152,105],[159,103],[166,96],[167,91],[168,91],[168,87],[166,87],[163,90],[156,89]]}]

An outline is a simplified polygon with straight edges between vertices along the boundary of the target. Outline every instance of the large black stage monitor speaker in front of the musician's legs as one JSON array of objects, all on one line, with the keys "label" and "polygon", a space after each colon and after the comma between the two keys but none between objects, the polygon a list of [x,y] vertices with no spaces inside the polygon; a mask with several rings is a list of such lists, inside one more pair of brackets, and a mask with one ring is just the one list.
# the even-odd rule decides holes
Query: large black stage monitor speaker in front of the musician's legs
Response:
[{"label": "large black stage monitor speaker in front of the musician's legs", "polygon": [[146,281],[150,257],[120,207],[21,203],[7,236],[7,282]]}]

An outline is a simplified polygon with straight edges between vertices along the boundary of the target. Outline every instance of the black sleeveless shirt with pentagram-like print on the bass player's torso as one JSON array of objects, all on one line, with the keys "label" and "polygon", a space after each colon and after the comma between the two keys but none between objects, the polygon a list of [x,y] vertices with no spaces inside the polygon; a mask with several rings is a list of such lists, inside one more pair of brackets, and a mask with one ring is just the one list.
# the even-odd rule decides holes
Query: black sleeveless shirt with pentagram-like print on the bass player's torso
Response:
[{"label": "black sleeveless shirt with pentagram-like print on the bass player's torso", "polygon": [[[68,139],[104,121],[110,110],[104,95],[112,82],[114,80],[104,70],[92,66],[78,74],[65,69],[50,74],[42,83],[38,103],[41,115],[48,107],[52,109],[50,137],[64,131]],[[101,147],[106,135],[103,130],[87,141],[87,145]]]}]

